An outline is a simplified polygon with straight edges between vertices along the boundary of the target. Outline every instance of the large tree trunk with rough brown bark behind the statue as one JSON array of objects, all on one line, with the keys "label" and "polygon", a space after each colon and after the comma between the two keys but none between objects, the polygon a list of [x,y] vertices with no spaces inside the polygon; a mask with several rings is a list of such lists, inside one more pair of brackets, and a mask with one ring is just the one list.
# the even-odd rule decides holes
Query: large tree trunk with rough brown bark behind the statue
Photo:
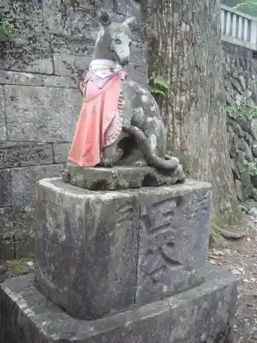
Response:
[{"label": "large tree trunk with rough brown bark behind the statue", "polygon": [[143,12],[158,31],[149,43],[149,73],[156,71],[171,84],[160,104],[169,151],[180,158],[188,176],[212,183],[214,214],[228,220],[233,213],[235,218],[219,0],[149,0]]}]

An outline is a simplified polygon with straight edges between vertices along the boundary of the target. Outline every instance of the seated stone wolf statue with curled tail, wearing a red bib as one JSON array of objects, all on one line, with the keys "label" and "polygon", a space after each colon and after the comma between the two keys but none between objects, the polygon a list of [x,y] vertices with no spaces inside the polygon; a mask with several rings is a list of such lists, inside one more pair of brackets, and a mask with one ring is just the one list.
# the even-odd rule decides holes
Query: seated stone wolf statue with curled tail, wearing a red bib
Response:
[{"label": "seated stone wolf statue with curled tail, wearing a red bib", "polygon": [[[99,23],[101,23],[101,29],[97,36],[95,43],[95,51],[93,56],[93,62],[90,64],[90,70],[97,67],[97,62],[107,64],[109,67],[114,67],[118,71],[122,67],[128,64],[130,60],[130,45],[132,41],[131,29],[134,25],[135,19],[128,18],[123,23],[113,22],[111,16],[106,11],[99,13]],[[102,62],[101,62],[102,61]],[[107,62],[106,62],[107,61]],[[112,65],[113,64],[113,65]],[[101,66],[103,67],[103,66]],[[114,68],[112,68],[114,70]],[[97,73],[97,72],[96,72]],[[109,134],[109,138],[104,139],[102,143],[102,151],[98,150],[101,154],[99,158],[99,164],[97,160],[94,163],[86,165],[81,163],[82,167],[90,167],[95,165],[102,165],[104,167],[113,167],[114,165],[130,165],[145,167],[147,165],[163,171],[174,171],[179,166],[179,161],[175,157],[167,155],[167,138],[164,128],[162,117],[160,116],[160,110],[156,103],[156,100],[151,93],[140,86],[138,83],[132,80],[125,80],[122,77],[122,73],[119,80],[120,92],[118,108],[120,106],[121,120],[116,121],[116,133]],[[90,77],[86,77],[82,84],[82,95],[85,95],[85,85],[90,86],[88,80]],[[93,80],[91,80],[93,81]],[[115,84],[115,82],[114,82]],[[101,88],[101,86],[100,86]],[[114,89],[113,86],[112,89]],[[114,91],[113,91],[114,92]],[[90,90],[89,90],[90,93]],[[114,104],[112,99],[114,93],[112,90],[106,95],[106,106],[110,112],[110,106]],[[93,99],[93,97],[91,97]],[[86,103],[85,97],[85,110],[88,111],[90,102]],[[96,113],[95,108],[91,109],[92,113]],[[90,146],[95,141],[95,131],[93,126],[101,125],[96,123],[96,116],[91,116],[92,120],[88,121],[88,124],[84,124],[84,128],[87,127],[87,131],[79,131],[79,121],[75,132],[75,138],[73,139],[73,145],[69,154],[69,160],[77,163],[78,161],[78,145],[76,140],[81,140],[86,135],[91,136],[90,142],[86,143]],[[114,120],[113,120],[114,121]],[[104,124],[103,124],[104,125]],[[120,126],[120,129],[117,128]],[[106,126],[107,127],[107,126]],[[118,134],[117,134],[118,132]],[[114,139],[113,139],[114,137]],[[92,143],[93,142],[93,143]],[[85,144],[84,144],[85,146]],[[98,154],[98,153],[96,153]],[[80,155],[89,156],[90,154],[80,152]],[[79,163],[77,163],[79,165]]]}]

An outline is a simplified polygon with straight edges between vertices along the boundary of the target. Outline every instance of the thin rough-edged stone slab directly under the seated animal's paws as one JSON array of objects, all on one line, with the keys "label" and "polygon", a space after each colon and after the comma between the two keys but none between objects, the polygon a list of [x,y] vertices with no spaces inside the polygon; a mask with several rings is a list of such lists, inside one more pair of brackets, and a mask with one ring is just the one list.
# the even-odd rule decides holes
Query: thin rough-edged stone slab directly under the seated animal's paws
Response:
[{"label": "thin rough-edged stone slab directly under the seated animal's paws", "polygon": [[68,162],[62,174],[64,182],[91,191],[169,186],[184,179],[181,165],[175,171],[160,172],[152,167],[84,168]]}]

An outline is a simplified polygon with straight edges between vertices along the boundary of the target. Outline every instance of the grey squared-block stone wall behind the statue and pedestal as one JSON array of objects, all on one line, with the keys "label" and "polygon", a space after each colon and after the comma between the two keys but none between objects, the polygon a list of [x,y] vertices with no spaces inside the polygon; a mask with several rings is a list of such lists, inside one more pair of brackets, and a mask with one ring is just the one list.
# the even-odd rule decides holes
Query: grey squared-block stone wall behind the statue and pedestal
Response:
[{"label": "grey squared-block stone wall behind the statue and pedestal", "polygon": [[[117,19],[128,1],[104,1]],[[60,176],[79,115],[78,84],[97,32],[93,0],[2,0],[15,37],[0,45],[0,257],[33,251],[36,182]],[[144,45],[134,35],[130,78],[147,84]]]}]

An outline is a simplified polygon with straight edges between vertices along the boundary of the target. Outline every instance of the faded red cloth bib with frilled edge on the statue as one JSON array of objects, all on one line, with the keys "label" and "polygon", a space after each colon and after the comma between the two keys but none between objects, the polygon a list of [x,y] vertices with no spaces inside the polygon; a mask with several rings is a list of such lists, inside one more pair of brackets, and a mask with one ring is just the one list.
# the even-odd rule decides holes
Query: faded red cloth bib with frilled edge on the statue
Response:
[{"label": "faded red cloth bib with frilled edge on the statue", "polygon": [[98,88],[90,79],[84,81],[84,102],[77,121],[69,160],[80,167],[99,164],[103,147],[110,145],[121,133],[122,117],[119,116],[119,96],[123,72],[112,77]]}]

